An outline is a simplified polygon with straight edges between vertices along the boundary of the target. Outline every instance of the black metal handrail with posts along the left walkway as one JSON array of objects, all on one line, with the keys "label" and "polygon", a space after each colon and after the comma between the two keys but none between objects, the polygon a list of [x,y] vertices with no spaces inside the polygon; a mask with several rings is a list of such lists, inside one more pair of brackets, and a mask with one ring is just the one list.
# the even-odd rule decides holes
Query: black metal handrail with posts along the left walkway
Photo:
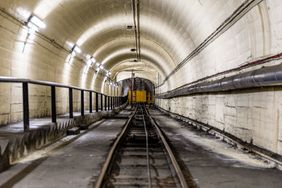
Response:
[{"label": "black metal handrail with posts along the left walkway", "polygon": [[[16,78],[16,77],[5,77],[0,76],[0,83],[21,83],[22,84],[22,100],[23,100],[23,124],[24,131],[29,130],[29,84],[41,85],[51,87],[51,116],[52,122],[57,123],[57,108],[56,108],[56,88],[67,88],[69,89],[69,117],[73,118],[73,90],[78,90],[81,92],[81,116],[84,116],[84,92],[89,92],[89,112],[92,113],[93,103],[92,94],[96,94],[96,112],[99,111],[99,95],[100,95],[100,110],[110,110],[114,107],[122,105],[126,102],[126,96],[108,96],[103,93],[96,92],[94,90],[79,88],[76,86],[65,85],[56,82],[32,80],[26,78]],[[104,98],[104,100],[103,100]],[[104,108],[103,108],[104,103]]]}]

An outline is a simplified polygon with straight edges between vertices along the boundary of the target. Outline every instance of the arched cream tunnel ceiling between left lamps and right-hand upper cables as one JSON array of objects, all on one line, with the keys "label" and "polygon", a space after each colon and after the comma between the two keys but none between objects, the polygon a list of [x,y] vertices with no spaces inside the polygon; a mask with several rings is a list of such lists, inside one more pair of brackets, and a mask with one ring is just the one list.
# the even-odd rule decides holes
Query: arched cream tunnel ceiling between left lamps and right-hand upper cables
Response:
[{"label": "arched cream tunnel ceiling between left lamps and right-hand upper cables", "polygon": [[0,6],[12,13],[19,8],[32,12],[47,24],[43,34],[64,45],[72,41],[121,72],[135,67],[128,63],[135,58],[130,52],[135,32],[127,29],[134,25],[133,2],[140,3],[141,59],[165,77],[244,1],[1,0]]}]

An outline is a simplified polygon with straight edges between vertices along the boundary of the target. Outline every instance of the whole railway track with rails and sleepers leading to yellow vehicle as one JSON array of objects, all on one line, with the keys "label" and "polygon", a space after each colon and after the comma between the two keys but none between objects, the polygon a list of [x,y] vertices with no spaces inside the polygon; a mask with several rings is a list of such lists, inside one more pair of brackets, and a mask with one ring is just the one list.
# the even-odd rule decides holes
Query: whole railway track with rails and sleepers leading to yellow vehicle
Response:
[{"label": "whole railway track with rails and sleepers leading to yellow vehicle", "polygon": [[188,187],[164,135],[145,107],[137,107],[129,118],[95,187]]}]

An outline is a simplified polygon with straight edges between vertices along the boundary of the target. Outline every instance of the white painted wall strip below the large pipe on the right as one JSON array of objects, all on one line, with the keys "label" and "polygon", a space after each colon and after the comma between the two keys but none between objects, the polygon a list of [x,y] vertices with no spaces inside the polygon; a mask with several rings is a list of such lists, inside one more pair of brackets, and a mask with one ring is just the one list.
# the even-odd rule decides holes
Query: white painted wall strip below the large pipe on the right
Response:
[{"label": "white painted wall strip below the large pipe on the right", "polygon": [[246,142],[282,154],[281,89],[196,95],[157,100],[157,104],[225,130]]}]

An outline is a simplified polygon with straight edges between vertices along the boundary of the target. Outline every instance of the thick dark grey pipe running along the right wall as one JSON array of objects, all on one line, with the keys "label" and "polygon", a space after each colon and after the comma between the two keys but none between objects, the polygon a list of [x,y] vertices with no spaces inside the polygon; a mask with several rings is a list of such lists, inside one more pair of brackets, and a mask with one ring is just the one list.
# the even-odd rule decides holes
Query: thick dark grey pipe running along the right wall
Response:
[{"label": "thick dark grey pipe running along the right wall", "polygon": [[282,64],[272,67],[262,67],[261,69],[237,74],[235,76],[178,88],[166,93],[157,94],[156,98],[169,99],[192,94],[215,93],[281,85]]}]

